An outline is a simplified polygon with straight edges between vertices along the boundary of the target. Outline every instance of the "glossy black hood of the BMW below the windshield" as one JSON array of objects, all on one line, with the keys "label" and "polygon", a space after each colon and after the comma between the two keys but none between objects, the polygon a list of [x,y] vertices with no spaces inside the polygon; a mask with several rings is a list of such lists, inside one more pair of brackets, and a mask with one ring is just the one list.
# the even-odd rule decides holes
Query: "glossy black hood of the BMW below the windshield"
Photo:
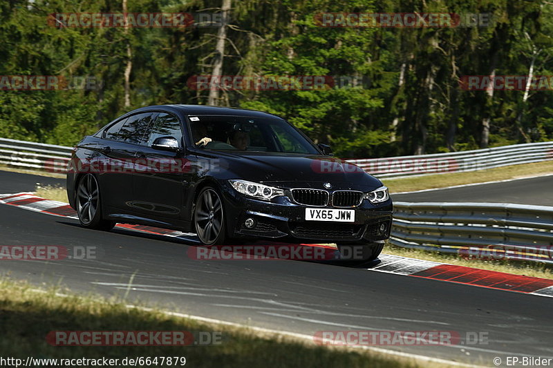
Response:
[{"label": "glossy black hood of the BMW below the windshield", "polygon": [[322,155],[281,153],[242,153],[218,155],[222,166],[234,178],[272,184],[284,188],[324,188],[371,191],[382,186],[377,178],[359,166]]}]

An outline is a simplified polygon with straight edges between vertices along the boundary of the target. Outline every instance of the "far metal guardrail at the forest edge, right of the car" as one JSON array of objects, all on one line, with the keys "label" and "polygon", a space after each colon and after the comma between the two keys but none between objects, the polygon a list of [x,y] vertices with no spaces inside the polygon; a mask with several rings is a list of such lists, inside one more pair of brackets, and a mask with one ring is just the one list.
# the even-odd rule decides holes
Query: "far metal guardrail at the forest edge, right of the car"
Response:
[{"label": "far metal guardrail at the forest edge, right of the car", "polygon": [[514,144],[474,151],[420,156],[351,159],[348,162],[356,164],[371,175],[385,178],[476,171],[550,159],[553,159],[553,142]]}]

